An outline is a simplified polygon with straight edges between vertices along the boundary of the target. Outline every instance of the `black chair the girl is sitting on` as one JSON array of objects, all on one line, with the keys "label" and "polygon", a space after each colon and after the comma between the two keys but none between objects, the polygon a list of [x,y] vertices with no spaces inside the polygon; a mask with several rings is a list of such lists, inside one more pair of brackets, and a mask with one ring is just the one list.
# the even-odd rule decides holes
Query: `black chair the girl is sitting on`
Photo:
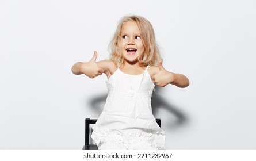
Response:
[{"label": "black chair the girl is sitting on", "polygon": [[[156,118],[156,123],[161,127],[161,119]],[[85,119],[85,146],[83,147],[83,150],[97,150],[98,147],[95,144],[90,144],[90,124],[95,124],[97,122],[97,119]]]}]

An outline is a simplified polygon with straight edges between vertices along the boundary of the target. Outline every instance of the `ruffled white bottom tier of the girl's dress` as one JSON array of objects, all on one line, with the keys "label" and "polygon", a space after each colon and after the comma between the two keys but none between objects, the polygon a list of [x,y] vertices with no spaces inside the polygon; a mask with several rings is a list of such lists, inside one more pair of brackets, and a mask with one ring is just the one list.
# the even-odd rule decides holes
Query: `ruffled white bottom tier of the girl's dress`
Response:
[{"label": "ruffled white bottom tier of the girl's dress", "polygon": [[91,138],[99,149],[163,149],[165,132],[149,129],[131,129],[127,133],[109,130],[104,127],[94,127]]}]

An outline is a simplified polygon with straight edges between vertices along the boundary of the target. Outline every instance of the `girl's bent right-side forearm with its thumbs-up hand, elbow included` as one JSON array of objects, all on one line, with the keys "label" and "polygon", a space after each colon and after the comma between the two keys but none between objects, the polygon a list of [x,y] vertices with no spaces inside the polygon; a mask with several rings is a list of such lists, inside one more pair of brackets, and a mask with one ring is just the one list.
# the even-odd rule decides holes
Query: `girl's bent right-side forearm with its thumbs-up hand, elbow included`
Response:
[{"label": "girl's bent right-side forearm with its thumbs-up hand, elbow included", "polygon": [[189,79],[185,75],[166,71],[162,62],[159,62],[158,67],[152,68],[151,79],[159,87],[165,87],[168,84],[181,88],[189,86]]}]

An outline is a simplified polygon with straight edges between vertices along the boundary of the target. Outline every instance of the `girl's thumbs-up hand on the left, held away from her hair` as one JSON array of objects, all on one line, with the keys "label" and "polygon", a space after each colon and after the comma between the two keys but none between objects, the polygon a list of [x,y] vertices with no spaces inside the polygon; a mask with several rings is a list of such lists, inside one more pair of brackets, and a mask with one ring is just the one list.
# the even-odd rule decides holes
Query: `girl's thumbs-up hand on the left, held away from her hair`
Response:
[{"label": "girl's thumbs-up hand on the left, held away from her hair", "polygon": [[89,76],[89,78],[95,78],[98,75],[102,75],[104,73],[104,70],[97,66],[96,59],[97,59],[97,51],[94,51],[93,57],[91,60],[87,63],[82,63],[80,65],[80,71]]}]

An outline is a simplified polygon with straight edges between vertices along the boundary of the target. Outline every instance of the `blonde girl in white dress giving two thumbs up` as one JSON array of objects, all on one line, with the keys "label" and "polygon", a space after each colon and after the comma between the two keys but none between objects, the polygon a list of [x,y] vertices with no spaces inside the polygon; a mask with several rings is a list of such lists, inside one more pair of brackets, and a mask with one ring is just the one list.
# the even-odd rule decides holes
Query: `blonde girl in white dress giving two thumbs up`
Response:
[{"label": "blonde girl in white dress giving two thumbs up", "polygon": [[110,60],[96,62],[94,51],[89,62],[72,66],[74,74],[108,78],[108,98],[92,139],[99,149],[163,149],[165,132],[152,115],[152,91],[155,84],[186,87],[188,78],[163,68],[152,25],[141,16],[121,18],[110,47]]}]

